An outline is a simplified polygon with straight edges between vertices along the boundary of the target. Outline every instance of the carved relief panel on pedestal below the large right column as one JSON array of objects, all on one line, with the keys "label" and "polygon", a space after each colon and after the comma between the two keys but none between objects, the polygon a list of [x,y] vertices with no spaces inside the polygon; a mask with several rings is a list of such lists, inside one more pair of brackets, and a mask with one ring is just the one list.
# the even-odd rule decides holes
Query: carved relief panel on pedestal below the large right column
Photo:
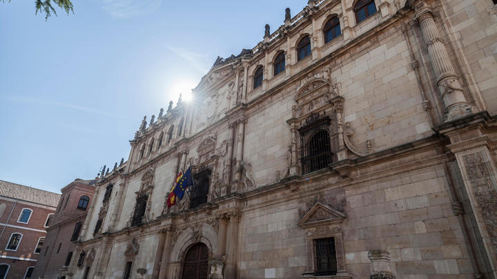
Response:
[{"label": "carved relief panel on pedestal below the large right column", "polygon": [[481,152],[462,156],[466,171],[474,193],[483,222],[487,227],[489,238],[494,249],[497,249],[497,189],[491,179],[489,162],[486,162]]}]

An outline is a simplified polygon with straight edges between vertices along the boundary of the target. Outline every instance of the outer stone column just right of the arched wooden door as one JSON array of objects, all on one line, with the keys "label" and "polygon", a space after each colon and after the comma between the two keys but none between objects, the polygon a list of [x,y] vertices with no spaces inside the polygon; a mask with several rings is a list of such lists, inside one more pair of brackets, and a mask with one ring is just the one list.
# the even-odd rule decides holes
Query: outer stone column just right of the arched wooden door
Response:
[{"label": "outer stone column just right of the arched wooden door", "polygon": [[238,224],[240,211],[229,213],[228,232],[226,234],[226,269],[224,278],[236,278],[238,254]]}]

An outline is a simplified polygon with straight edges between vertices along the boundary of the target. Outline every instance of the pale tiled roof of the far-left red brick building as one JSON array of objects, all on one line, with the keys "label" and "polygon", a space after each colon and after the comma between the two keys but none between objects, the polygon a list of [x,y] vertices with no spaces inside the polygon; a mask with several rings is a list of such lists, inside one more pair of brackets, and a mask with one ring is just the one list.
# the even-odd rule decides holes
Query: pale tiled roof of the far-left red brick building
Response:
[{"label": "pale tiled roof of the far-left red brick building", "polygon": [[26,200],[39,205],[57,207],[61,195],[42,189],[0,180],[0,196],[15,198],[17,200]]}]

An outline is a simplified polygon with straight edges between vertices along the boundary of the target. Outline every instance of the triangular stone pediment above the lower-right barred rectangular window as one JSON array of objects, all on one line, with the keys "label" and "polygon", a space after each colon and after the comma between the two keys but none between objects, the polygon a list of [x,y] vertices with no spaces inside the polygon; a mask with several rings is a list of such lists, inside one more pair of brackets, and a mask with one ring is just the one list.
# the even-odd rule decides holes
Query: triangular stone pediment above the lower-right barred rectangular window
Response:
[{"label": "triangular stone pediment above the lower-right barred rectangular window", "polygon": [[317,225],[327,225],[331,223],[342,223],[345,214],[328,205],[315,203],[309,211],[300,219],[300,227],[312,227]]}]

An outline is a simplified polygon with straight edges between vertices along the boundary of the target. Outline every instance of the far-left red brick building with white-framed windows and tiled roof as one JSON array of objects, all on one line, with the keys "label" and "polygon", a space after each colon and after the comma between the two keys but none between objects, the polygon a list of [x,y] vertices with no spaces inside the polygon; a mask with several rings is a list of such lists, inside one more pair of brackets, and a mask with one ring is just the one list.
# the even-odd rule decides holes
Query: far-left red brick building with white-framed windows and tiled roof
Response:
[{"label": "far-left red brick building with white-framed windows and tiled roof", "polygon": [[0,180],[0,279],[34,278],[60,195]]}]

